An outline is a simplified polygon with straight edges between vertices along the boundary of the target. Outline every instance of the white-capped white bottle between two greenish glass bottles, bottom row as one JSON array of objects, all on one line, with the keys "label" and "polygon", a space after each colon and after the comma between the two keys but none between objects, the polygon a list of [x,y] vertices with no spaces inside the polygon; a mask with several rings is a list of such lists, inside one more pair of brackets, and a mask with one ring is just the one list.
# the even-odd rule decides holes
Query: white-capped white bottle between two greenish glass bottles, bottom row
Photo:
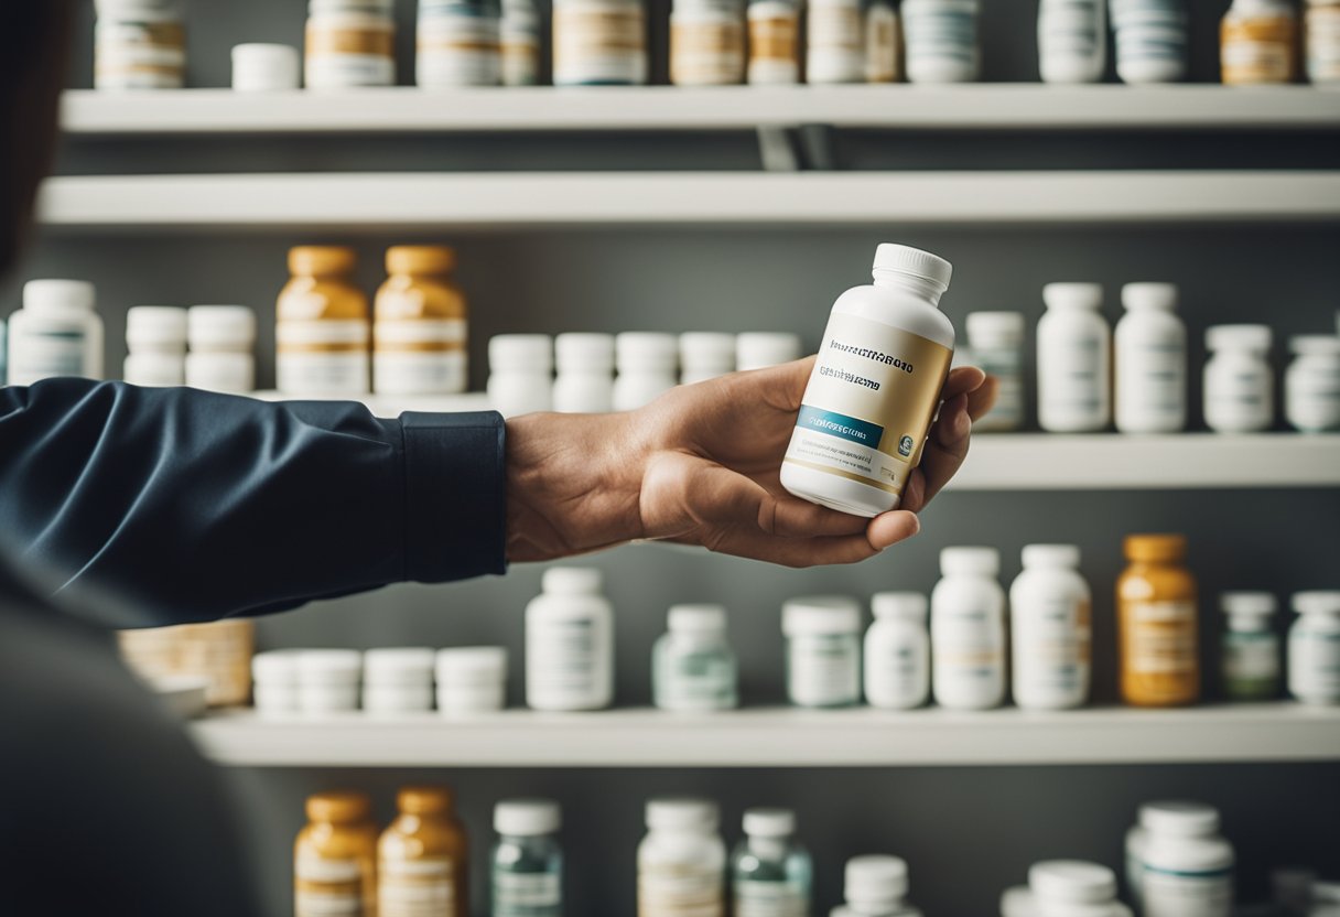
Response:
[{"label": "white-capped white bottle between two greenish glass bottles, bottom row", "polygon": [[726,845],[706,799],[653,799],[638,845],[639,917],[724,917]]}]

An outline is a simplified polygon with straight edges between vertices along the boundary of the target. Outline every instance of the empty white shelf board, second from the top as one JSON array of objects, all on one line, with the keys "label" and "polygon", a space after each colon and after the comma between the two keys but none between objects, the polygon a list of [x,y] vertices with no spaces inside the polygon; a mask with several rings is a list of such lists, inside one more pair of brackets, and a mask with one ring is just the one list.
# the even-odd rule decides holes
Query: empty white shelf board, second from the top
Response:
[{"label": "empty white shelf board, second from the top", "polygon": [[1340,220],[1340,172],[316,173],[50,180],[80,229]]}]

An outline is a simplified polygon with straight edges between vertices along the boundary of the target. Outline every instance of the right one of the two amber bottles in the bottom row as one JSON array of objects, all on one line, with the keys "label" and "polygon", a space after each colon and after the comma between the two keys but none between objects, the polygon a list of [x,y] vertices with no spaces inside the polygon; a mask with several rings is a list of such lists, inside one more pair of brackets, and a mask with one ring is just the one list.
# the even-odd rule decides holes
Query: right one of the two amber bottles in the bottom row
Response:
[{"label": "right one of the two amber bottles in the bottom row", "polygon": [[406,787],[378,842],[381,917],[469,917],[465,829],[445,787]]}]

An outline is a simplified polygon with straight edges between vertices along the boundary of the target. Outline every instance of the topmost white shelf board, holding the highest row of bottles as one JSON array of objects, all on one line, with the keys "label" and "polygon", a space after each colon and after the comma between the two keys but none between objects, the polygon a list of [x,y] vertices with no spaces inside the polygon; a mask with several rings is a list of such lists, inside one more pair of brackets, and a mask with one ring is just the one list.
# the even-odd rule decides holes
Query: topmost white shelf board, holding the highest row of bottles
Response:
[{"label": "topmost white shelf board, holding the highest row of bottles", "polygon": [[748,130],[1336,130],[1340,93],[1309,86],[535,87],[239,94],[66,93],[71,134]]}]

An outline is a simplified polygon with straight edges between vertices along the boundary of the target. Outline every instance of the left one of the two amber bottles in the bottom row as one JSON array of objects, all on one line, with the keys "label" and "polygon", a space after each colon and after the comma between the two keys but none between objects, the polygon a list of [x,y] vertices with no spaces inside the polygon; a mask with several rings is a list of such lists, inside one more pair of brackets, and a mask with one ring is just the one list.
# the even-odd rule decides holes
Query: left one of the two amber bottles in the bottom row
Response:
[{"label": "left one of the two amber bottles in the bottom row", "polygon": [[293,845],[293,917],[377,914],[377,826],[359,792],[307,799],[308,824]]}]

